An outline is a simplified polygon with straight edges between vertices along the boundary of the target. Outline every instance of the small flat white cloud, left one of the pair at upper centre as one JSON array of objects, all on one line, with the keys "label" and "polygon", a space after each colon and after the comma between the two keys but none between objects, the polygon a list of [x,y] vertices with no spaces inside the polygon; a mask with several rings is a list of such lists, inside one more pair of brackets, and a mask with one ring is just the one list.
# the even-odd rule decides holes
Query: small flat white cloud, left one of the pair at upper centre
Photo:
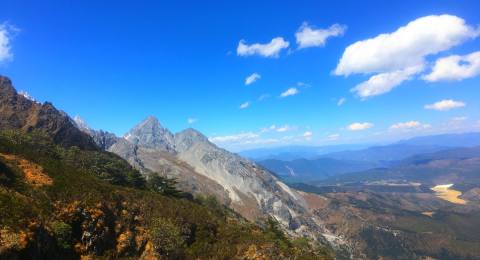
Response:
[{"label": "small flat white cloud, left one of the pair at upper centre", "polygon": [[282,37],[273,38],[269,43],[261,44],[254,43],[247,45],[245,40],[238,43],[238,56],[260,55],[263,57],[276,58],[282,49],[286,49],[290,43],[285,41]]}]

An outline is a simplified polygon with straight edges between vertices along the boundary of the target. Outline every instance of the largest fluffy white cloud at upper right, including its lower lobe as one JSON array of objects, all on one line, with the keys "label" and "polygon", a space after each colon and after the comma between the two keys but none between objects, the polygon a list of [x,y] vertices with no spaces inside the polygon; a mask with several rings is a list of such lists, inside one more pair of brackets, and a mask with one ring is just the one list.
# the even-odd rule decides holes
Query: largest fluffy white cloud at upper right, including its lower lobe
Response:
[{"label": "largest fluffy white cloud at upper right, including its lower lobe", "polygon": [[478,28],[457,16],[421,17],[392,33],[351,44],[334,74],[375,74],[352,91],[362,98],[381,95],[422,72],[428,55],[448,50],[479,34]]}]

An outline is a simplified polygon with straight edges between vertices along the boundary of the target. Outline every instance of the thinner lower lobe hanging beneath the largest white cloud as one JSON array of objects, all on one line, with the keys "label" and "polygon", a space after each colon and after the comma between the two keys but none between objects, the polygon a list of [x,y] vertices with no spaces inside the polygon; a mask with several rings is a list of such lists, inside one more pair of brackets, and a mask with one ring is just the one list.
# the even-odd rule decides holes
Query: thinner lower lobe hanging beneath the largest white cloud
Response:
[{"label": "thinner lower lobe hanging beneath the largest white cloud", "polygon": [[422,70],[423,65],[419,65],[404,70],[380,73],[370,77],[367,81],[358,84],[350,91],[355,92],[357,96],[363,99],[382,95],[398,87],[403,81],[410,80],[413,75]]}]

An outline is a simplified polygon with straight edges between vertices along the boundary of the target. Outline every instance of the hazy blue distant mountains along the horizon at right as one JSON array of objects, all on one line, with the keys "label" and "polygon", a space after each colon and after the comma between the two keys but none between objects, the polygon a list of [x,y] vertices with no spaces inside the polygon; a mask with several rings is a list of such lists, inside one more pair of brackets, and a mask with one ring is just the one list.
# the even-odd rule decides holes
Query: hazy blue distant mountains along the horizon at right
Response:
[{"label": "hazy blue distant mountains along the horizon at right", "polygon": [[[463,148],[480,145],[480,133],[444,134],[415,137],[394,144],[325,147],[281,147],[244,152],[286,182],[309,182],[374,168],[395,167],[407,158],[423,160],[422,155],[435,153],[461,157]],[[349,150],[342,150],[348,148]],[[457,148],[457,149],[452,149]],[[338,151],[340,150],[340,151]],[[449,150],[450,153],[444,152]],[[330,151],[330,152],[329,152]],[[333,151],[333,152],[331,152]],[[469,150],[467,150],[469,151]],[[258,159],[258,158],[267,159]]]}]

